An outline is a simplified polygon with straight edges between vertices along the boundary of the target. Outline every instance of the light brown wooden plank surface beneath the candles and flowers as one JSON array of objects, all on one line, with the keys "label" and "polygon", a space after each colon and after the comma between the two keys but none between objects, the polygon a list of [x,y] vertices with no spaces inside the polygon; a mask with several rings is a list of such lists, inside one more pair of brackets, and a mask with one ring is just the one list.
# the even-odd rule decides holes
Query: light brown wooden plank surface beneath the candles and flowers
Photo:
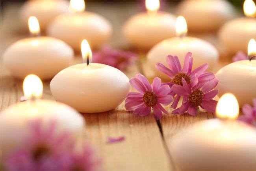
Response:
[{"label": "light brown wooden plank surface beneath the candles and flowers", "polygon": [[[9,44],[28,36],[26,32],[19,31],[20,23],[15,22],[15,20],[18,20],[17,11],[19,7],[20,3],[7,6],[4,12],[2,11],[4,15],[1,16],[1,58],[3,51]],[[115,31],[117,30],[110,45],[116,47],[127,45],[122,36],[120,36],[121,24],[135,11],[130,10],[129,12],[129,10],[126,10],[128,12],[125,16],[110,13],[115,8],[117,13],[119,11],[122,14],[126,7],[117,8],[107,5],[107,7],[91,8],[91,11],[100,11],[110,18],[109,20],[113,23]],[[98,10],[103,8],[104,10]],[[204,37],[218,46],[215,35],[206,35]],[[221,56],[223,56],[224,53],[221,50],[220,52]],[[78,54],[74,63],[79,63],[80,61],[82,59]],[[153,74],[151,69],[148,68],[145,58],[141,58],[140,63],[143,71],[140,70],[141,68],[138,65],[133,65],[126,71],[126,75],[131,78],[136,73],[144,72],[151,79]],[[227,63],[228,60],[221,60],[215,71]],[[13,78],[4,68],[2,62],[0,67],[0,111],[2,111],[11,104],[19,102],[19,98],[23,93],[22,81]],[[50,81],[44,82],[43,98],[54,100],[50,93],[49,83]],[[167,110],[171,113],[170,107],[167,107]],[[172,140],[173,135],[189,124],[214,117],[213,113],[204,111],[198,113],[197,116],[170,114],[164,115],[160,122],[157,123],[152,114],[141,117],[126,111],[124,102],[113,111],[81,115],[84,116],[86,121],[85,136],[96,147],[98,154],[103,159],[103,168],[106,171],[175,170],[175,164],[172,162],[171,150],[169,149],[169,142]],[[125,140],[108,144],[106,142],[108,136],[125,136]]]}]

